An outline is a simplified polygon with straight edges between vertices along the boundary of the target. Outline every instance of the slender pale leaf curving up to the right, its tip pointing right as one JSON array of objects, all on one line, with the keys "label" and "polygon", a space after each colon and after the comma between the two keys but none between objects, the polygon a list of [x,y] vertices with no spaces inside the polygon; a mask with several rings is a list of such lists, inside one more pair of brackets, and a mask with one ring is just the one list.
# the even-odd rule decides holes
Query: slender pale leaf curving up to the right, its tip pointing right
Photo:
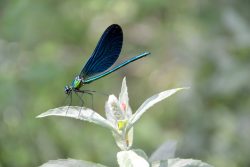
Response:
[{"label": "slender pale leaf curving up to the right, its tip pointing right", "polygon": [[176,89],[170,89],[170,90],[166,90],[164,92],[158,93],[154,96],[151,96],[150,98],[148,98],[140,107],[139,109],[132,115],[132,117],[130,118],[129,122],[128,122],[128,126],[127,128],[131,128],[131,126],[138,121],[142,114],[147,111],[150,107],[152,107],[154,104],[164,100],[165,98],[175,94],[176,92],[178,92],[179,90],[183,90],[183,89],[187,89],[187,88],[176,88]]}]

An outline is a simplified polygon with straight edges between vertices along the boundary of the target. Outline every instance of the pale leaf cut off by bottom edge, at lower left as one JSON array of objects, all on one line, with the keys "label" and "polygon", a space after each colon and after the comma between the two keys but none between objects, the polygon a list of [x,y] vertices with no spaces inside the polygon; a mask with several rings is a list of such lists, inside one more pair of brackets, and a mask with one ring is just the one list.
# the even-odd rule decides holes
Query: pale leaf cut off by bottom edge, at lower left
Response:
[{"label": "pale leaf cut off by bottom edge, at lower left", "polygon": [[75,159],[58,159],[50,160],[49,162],[41,165],[40,167],[107,167],[93,162],[75,160]]}]

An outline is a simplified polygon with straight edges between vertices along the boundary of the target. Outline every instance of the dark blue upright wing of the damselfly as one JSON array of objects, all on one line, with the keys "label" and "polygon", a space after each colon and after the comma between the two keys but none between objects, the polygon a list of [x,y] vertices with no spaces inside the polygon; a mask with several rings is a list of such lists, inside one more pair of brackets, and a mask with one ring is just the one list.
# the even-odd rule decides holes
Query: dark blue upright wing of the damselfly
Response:
[{"label": "dark blue upright wing of the damselfly", "polygon": [[87,79],[111,67],[122,49],[122,29],[117,24],[109,26],[102,34],[94,52],[83,67],[80,77]]}]

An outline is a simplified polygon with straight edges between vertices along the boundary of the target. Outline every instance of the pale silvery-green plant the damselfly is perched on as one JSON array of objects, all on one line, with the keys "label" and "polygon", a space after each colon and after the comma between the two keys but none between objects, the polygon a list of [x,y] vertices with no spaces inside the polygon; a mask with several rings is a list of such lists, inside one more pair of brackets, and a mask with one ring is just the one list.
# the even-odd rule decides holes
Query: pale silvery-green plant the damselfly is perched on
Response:
[{"label": "pale silvery-green plant the damselfly is perched on", "polygon": [[[117,153],[117,161],[120,167],[210,167],[210,165],[199,160],[174,158],[175,142],[164,143],[150,158],[140,149],[131,149],[133,144],[133,127],[141,116],[154,104],[183,89],[187,88],[176,88],[155,94],[148,98],[133,114],[129,105],[126,78],[124,78],[119,98],[110,95],[105,104],[106,118],[92,109],[78,106],[63,106],[50,109],[37,117],[71,117],[89,121],[110,129],[117,146],[121,149],[121,151]],[[42,167],[55,166],[104,167],[104,165],[74,159],[53,160],[42,165]]]}]

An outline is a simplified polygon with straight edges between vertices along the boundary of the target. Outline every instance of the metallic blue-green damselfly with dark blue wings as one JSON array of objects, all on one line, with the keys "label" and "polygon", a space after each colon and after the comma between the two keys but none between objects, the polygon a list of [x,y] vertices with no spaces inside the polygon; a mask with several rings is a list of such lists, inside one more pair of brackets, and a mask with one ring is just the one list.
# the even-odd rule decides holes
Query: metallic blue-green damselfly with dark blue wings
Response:
[{"label": "metallic blue-green damselfly with dark blue wings", "polygon": [[80,74],[72,81],[71,85],[65,86],[65,93],[67,95],[72,95],[72,92],[90,94],[89,90],[81,90],[80,88],[150,54],[144,52],[108,70],[119,57],[122,42],[123,33],[121,27],[117,24],[110,25],[102,34],[94,52]]}]

